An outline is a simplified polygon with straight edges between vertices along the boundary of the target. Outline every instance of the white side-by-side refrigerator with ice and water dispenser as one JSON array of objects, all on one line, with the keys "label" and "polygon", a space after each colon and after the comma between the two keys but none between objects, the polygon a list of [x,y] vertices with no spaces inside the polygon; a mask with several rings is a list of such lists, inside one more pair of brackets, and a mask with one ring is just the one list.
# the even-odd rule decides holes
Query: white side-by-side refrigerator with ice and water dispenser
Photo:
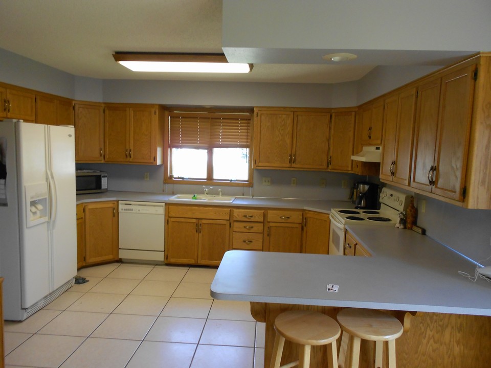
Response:
[{"label": "white side-by-side refrigerator with ice and water dispenser", "polygon": [[24,320],[77,273],[74,128],[0,122],[4,318]]}]

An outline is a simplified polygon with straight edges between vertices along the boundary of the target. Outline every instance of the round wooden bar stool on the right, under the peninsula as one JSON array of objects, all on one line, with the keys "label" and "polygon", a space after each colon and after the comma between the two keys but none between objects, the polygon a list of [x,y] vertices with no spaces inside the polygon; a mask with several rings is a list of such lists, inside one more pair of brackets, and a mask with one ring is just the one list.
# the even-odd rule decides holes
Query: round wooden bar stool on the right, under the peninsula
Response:
[{"label": "round wooden bar stool on the right, under the peninsula", "polygon": [[[338,323],[343,329],[341,349],[348,340],[347,367],[358,368],[360,341],[375,341],[375,367],[382,368],[383,344],[387,341],[389,368],[395,368],[395,339],[403,334],[403,326],[390,314],[375,309],[347,308],[338,313]],[[344,352],[340,351],[340,364],[344,367]]]}]

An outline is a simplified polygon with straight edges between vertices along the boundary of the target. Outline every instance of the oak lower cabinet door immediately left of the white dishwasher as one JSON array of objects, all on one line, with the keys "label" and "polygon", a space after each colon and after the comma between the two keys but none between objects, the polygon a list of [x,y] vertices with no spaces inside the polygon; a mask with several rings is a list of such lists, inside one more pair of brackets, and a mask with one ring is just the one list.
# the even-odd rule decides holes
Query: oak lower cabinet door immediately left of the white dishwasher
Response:
[{"label": "oak lower cabinet door immediately left of the white dishwasher", "polygon": [[85,263],[118,259],[118,202],[94,202],[84,206]]}]

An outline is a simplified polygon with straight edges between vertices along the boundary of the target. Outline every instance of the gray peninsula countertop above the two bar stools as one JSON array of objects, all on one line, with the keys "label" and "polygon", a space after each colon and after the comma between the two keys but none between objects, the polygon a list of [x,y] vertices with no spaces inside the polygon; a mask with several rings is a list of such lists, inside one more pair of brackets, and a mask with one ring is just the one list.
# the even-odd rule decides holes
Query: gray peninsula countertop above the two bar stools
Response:
[{"label": "gray peninsula countertop above the two bar stools", "polygon": [[[491,315],[491,283],[475,265],[407,229],[350,225],[373,257],[232,250],[211,285],[217,299]],[[326,290],[339,285],[338,292]]]}]

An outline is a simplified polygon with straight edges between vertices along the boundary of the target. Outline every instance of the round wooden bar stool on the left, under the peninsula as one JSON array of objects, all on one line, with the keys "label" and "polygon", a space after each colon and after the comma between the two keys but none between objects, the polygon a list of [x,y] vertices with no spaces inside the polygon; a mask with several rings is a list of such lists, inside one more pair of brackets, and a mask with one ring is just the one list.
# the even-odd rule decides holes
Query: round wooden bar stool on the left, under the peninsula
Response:
[{"label": "round wooden bar stool on the left, under the peninsula", "polygon": [[302,345],[299,360],[282,365],[281,368],[293,367],[298,364],[300,368],[310,366],[310,346],[331,344],[331,351],[327,349],[329,367],[338,367],[338,349],[336,339],[341,334],[337,322],[331,317],[314,311],[295,310],[278,315],[275,319],[275,346],[271,356],[270,368],[280,368],[281,356],[285,339]]}]

